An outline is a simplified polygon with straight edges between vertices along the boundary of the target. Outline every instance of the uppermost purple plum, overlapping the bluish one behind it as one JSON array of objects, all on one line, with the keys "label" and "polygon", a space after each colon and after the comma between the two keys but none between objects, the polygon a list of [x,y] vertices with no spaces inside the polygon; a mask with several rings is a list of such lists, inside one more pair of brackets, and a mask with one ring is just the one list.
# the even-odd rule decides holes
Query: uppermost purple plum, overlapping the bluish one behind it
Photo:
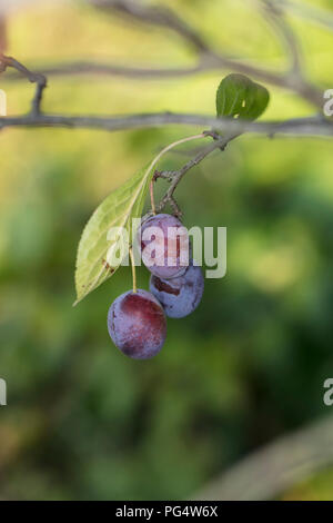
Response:
[{"label": "uppermost purple plum, overlapping the bluish one behind it", "polygon": [[189,266],[189,234],[171,215],[160,214],[145,220],[139,230],[142,262],[160,278],[174,278]]}]

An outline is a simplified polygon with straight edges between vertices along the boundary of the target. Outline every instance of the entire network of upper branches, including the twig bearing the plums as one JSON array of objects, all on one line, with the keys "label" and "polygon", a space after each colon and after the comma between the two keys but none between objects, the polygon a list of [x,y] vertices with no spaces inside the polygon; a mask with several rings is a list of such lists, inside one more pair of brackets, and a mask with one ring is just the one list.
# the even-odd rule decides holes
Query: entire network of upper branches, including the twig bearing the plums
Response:
[{"label": "entire network of upper branches, including the twig bearing the plums", "polygon": [[[98,73],[115,75],[130,78],[167,78],[196,75],[208,70],[228,69],[234,72],[249,75],[264,82],[273,83],[281,88],[287,88],[307,100],[314,107],[322,110],[323,95],[319,88],[312,86],[302,71],[302,57],[299,41],[284,17],[285,2],[278,4],[274,0],[256,0],[274,31],[280,34],[287,56],[291,59],[290,68],[285,72],[266,70],[246,62],[242,62],[222,53],[215,52],[200,33],[184,22],[168,7],[148,6],[140,0],[89,0],[95,8],[108,13],[120,13],[130,19],[170,29],[178,33],[184,41],[195,49],[198,55],[196,66],[189,68],[138,68],[123,67],[90,61],[78,61],[68,65],[44,68],[43,71],[31,72],[22,63],[13,58],[0,55],[0,72],[8,68],[16,69],[29,81],[37,85],[36,93],[28,115],[0,118],[0,129],[9,127],[63,127],[88,128],[105,131],[119,131],[125,129],[158,127],[167,125],[184,125],[209,127],[211,131],[206,136],[214,138],[213,144],[199,150],[183,167],[175,171],[157,171],[154,179],[167,178],[170,187],[159,204],[161,210],[167,204],[173,207],[175,214],[180,209],[174,200],[174,190],[183,176],[194,166],[199,165],[214,150],[224,150],[228,144],[238,136],[246,134],[263,134],[273,137],[281,136],[322,136],[333,137],[333,124],[323,116],[315,115],[311,118],[299,118],[287,121],[250,122],[230,118],[213,118],[203,115],[191,114],[145,114],[127,116],[67,116],[47,115],[41,111],[41,102],[48,75],[79,75]],[[16,75],[9,78],[16,78]],[[221,136],[223,132],[224,136]]]}]

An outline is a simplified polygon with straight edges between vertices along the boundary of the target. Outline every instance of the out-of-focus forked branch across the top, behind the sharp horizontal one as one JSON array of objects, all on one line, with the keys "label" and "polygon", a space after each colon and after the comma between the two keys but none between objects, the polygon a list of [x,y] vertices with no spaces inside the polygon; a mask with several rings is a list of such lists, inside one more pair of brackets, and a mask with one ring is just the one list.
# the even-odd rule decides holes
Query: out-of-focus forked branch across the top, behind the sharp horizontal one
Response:
[{"label": "out-of-focus forked branch across the top, behind the sharp horizontal one", "polygon": [[[204,71],[229,70],[249,75],[258,80],[291,90],[316,108],[322,108],[322,92],[315,86],[312,86],[301,75],[301,60],[297,41],[293,31],[286,23],[280,7],[270,0],[260,0],[265,4],[265,13],[269,16],[271,23],[278,28],[282,40],[287,45],[293,60],[293,67],[286,72],[273,71],[258,66],[253,66],[245,61],[226,57],[221,52],[216,52],[211,46],[203,41],[196,30],[185,23],[170,8],[145,6],[140,0],[89,0],[89,3],[108,13],[121,13],[130,19],[140,22],[164,27],[173,30],[188,41],[198,53],[198,62],[192,67],[183,68],[139,68],[123,67],[112,63],[95,63],[91,61],[75,61],[67,65],[48,66],[38,69],[38,73],[43,75],[112,75],[123,76],[137,79],[150,78],[174,78],[183,76],[198,75]],[[297,72],[297,75],[295,73]],[[13,75],[12,79],[17,76]],[[10,77],[9,77],[10,79]]]}]

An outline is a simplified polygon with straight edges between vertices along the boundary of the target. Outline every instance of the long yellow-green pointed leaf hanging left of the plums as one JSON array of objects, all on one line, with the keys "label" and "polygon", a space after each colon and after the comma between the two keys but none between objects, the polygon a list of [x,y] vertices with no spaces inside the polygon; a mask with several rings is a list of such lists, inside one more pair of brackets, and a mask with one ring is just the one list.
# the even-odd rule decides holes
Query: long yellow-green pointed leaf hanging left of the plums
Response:
[{"label": "long yellow-green pointed leaf hanging left of the plums", "polygon": [[[120,266],[121,260],[114,266],[107,263],[109,249],[117,248],[121,239],[121,234],[113,230],[110,234],[110,229],[125,228],[131,241],[132,234],[135,234],[132,230],[132,219],[141,217],[151,177],[150,168],[142,169],[111,193],[92,214],[78,248],[74,305],[110,278]],[[124,247],[128,253],[130,244]]]}]

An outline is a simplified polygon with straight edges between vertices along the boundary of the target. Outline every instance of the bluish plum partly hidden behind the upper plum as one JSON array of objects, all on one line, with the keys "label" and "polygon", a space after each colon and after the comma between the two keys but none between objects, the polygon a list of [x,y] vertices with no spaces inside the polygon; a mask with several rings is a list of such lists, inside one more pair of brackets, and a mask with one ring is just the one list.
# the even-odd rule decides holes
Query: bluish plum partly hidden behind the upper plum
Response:
[{"label": "bluish plum partly hidden behind the upper plum", "polygon": [[154,275],[150,278],[150,290],[170,318],[183,318],[193,313],[201,302],[203,288],[202,270],[193,263],[178,278],[162,279]]}]

